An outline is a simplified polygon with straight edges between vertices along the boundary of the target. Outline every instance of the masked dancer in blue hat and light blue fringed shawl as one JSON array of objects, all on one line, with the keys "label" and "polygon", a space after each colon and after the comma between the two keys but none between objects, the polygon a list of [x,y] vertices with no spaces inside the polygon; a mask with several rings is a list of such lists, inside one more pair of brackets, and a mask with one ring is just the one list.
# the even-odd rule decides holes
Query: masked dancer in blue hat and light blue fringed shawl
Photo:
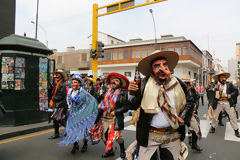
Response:
[{"label": "masked dancer in blue hat and light blue fringed shawl", "polygon": [[87,151],[88,132],[93,127],[98,114],[98,104],[83,87],[84,82],[80,74],[72,76],[72,88],[67,94],[69,116],[67,119],[64,137],[59,145],[73,143],[71,153],[79,149],[78,141],[83,139],[81,152]]}]

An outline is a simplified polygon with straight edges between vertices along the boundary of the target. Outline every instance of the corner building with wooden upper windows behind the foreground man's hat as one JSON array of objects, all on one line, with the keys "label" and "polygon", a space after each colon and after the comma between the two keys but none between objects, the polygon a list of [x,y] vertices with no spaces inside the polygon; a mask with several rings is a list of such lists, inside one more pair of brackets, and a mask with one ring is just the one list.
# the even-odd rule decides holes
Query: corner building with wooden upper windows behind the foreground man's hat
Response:
[{"label": "corner building with wooden upper windows behind the foreground man's hat", "polygon": [[104,58],[98,62],[99,75],[118,72],[133,80],[138,62],[154,50],[175,51],[179,54],[179,63],[174,69],[177,77],[188,74],[191,78],[199,79],[198,71],[202,67],[202,51],[185,37],[166,35],[157,39],[157,43],[155,40],[135,39],[107,45],[104,50]]}]

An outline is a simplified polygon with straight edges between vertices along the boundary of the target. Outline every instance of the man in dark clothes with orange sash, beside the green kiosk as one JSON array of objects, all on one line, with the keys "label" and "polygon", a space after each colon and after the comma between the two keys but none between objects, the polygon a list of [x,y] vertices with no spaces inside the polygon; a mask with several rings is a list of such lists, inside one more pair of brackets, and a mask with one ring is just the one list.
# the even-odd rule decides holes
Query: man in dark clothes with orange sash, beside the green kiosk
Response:
[{"label": "man in dark clothes with orange sash, beside the green kiosk", "polygon": [[54,111],[51,115],[51,119],[53,120],[55,134],[52,135],[49,139],[56,139],[60,137],[59,123],[67,113],[67,89],[65,84],[65,81],[67,80],[67,74],[63,70],[58,69],[53,72],[53,78],[55,81],[55,86],[53,87],[49,107],[53,108]]}]

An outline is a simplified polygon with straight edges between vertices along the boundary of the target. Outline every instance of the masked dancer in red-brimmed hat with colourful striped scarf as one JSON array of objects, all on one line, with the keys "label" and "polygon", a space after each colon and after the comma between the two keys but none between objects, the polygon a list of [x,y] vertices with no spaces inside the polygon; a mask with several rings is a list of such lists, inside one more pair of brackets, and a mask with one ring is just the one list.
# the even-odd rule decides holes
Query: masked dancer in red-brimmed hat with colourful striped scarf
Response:
[{"label": "masked dancer in red-brimmed hat with colourful striped scarf", "polygon": [[127,112],[130,105],[128,101],[129,81],[127,77],[119,73],[110,73],[106,78],[109,84],[109,90],[103,94],[99,104],[101,109],[99,117],[103,120],[103,141],[106,144],[103,158],[114,156],[113,141],[117,141],[120,146],[120,157],[125,159],[126,153],[124,148],[124,140],[121,130],[124,129],[124,112]]}]

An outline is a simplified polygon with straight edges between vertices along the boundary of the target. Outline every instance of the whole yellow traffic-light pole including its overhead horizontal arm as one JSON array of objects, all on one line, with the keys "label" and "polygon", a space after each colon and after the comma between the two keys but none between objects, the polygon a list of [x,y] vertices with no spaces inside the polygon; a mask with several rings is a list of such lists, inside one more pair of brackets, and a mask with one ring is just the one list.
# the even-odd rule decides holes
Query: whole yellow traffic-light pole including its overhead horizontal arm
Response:
[{"label": "whole yellow traffic-light pole including its overhead horizontal arm", "polygon": [[[126,11],[129,9],[134,9],[137,7],[142,7],[158,2],[163,2],[166,0],[146,0],[141,4],[135,5],[135,0],[122,0],[120,2],[116,2],[113,4],[105,5],[102,7],[98,7],[98,4],[93,4],[93,23],[92,23],[92,50],[96,51],[96,56],[92,58],[92,74],[93,74],[93,82],[96,82],[97,73],[98,73],[98,17]],[[105,9],[106,13],[98,14],[98,10]]]}]

